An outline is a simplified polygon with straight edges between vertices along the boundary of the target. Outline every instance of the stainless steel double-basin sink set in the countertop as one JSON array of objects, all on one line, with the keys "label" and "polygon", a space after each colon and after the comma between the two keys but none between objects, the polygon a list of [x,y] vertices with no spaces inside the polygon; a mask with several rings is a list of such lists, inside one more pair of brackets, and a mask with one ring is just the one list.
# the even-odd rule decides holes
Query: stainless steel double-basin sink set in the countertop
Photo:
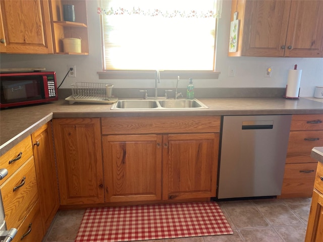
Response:
[{"label": "stainless steel double-basin sink set in the countertop", "polygon": [[118,100],[111,109],[200,109],[208,108],[197,99]]}]

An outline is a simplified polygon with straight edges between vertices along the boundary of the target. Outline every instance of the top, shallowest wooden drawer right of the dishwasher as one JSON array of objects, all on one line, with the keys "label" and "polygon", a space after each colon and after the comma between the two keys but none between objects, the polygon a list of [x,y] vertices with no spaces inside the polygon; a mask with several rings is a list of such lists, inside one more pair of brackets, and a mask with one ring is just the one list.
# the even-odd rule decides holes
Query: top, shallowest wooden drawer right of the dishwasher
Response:
[{"label": "top, shallowest wooden drawer right of the dishwasher", "polygon": [[291,131],[296,130],[323,130],[323,114],[293,115]]}]

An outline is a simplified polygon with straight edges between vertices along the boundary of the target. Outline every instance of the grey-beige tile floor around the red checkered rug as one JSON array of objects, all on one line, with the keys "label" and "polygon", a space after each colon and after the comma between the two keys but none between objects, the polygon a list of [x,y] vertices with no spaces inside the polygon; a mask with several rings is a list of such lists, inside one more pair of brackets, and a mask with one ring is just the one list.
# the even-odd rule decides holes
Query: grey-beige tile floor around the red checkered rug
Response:
[{"label": "grey-beige tile floor around the red checkered rug", "polygon": [[[218,204],[234,231],[232,235],[158,242],[303,242],[310,202],[311,198],[221,201]],[[43,242],[74,242],[84,211],[59,211]]]}]

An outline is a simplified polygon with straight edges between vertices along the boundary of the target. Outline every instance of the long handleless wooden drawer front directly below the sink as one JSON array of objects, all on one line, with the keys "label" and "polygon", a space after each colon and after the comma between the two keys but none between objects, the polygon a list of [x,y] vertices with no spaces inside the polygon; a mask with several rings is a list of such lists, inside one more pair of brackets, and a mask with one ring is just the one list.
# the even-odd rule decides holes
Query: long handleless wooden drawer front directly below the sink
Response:
[{"label": "long handleless wooden drawer front directly below the sink", "polygon": [[220,116],[102,117],[103,135],[218,133]]}]

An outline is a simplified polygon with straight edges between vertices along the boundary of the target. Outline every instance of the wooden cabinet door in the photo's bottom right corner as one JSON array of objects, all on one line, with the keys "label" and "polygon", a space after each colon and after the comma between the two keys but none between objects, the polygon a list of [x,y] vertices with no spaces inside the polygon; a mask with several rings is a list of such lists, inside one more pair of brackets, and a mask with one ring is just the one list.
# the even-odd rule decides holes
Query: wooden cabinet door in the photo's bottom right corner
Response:
[{"label": "wooden cabinet door in the photo's bottom right corner", "polygon": [[323,241],[323,195],[314,189],[305,242]]}]

